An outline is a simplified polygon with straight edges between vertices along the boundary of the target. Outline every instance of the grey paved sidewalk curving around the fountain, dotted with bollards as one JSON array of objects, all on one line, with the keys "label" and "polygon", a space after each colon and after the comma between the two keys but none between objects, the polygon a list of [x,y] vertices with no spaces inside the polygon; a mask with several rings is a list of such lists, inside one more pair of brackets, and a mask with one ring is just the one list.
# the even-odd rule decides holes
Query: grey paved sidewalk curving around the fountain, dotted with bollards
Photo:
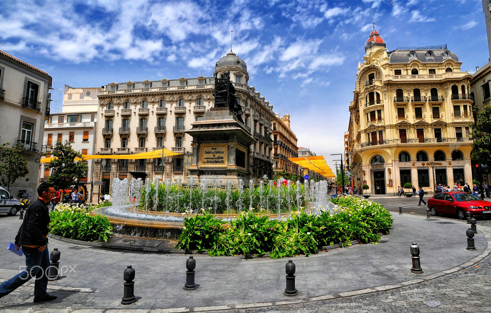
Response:
[{"label": "grey paved sidewalk curving around the fountain, dotted with bollards", "polygon": [[[183,286],[187,255],[109,251],[50,238],[50,251],[55,247],[61,251],[60,267],[74,268],[74,271],[64,273],[67,277],[48,285],[57,289],[52,293],[58,299],[33,304],[32,287],[25,286],[1,298],[0,308],[12,312],[32,309],[42,312],[146,309],[148,312],[150,309],[176,308],[158,311],[162,313],[274,306],[291,304],[291,301],[306,303],[409,286],[471,266],[475,260],[468,261],[476,256],[484,257],[482,252],[487,247],[487,240],[483,229],[478,228],[477,250],[471,252],[465,250],[468,226],[461,221],[427,220],[409,214],[393,217],[394,230],[390,235],[382,236],[380,244],[354,245],[308,258],[292,258],[297,265],[296,288],[299,290],[299,295],[293,298],[283,295],[288,259],[243,260],[240,256],[194,255],[195,281],[200,287],[186,291]],[[13,241],[20,222],[18,216],[0,217],[4,234],[0,245],[6,247]],[[409,246],[412,242],[420,246],[424,274],[410,273]],[[0,280],[18,273],[24,262],[24,258],[4,250],[0,255]],[[464,265],[447,271],[461,264]],[[136,270],[135,295],[139,300],[122,306],[122,274],[126,265],[133,265]],[[209,306],[213,307],[203,308]]]}]

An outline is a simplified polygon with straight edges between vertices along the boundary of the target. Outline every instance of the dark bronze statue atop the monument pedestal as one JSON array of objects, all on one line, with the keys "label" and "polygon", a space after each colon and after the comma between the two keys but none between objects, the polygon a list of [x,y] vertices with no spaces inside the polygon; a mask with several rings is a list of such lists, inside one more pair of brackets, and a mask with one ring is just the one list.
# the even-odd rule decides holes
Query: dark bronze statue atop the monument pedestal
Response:
[{"label": "dark bronze statue atop the monument pedestal", "polygon": [[237,120],[244,124],[242,120],[242,106],[238,103],[235,97],[235,87],[230,81],[230,72],[223,73],[220,78],[215,74],[215,107],[227,107],[235,114]]}]

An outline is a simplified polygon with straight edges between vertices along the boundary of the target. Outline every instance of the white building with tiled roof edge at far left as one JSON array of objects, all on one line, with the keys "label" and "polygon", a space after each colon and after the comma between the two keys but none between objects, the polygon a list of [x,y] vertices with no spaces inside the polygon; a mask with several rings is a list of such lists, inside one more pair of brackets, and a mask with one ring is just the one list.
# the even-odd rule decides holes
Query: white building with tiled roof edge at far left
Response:
[{"label": "white building with tiled roof edge at far left", "polygon": [[43,123],[45,115],[50,114],[52,83],[48,73],[0,51],[1,143],[10,142],[27,149],[23,156],[29,173],[17,179],[9,190],[16,197],[27,192],[35,199],[37,194]]}]

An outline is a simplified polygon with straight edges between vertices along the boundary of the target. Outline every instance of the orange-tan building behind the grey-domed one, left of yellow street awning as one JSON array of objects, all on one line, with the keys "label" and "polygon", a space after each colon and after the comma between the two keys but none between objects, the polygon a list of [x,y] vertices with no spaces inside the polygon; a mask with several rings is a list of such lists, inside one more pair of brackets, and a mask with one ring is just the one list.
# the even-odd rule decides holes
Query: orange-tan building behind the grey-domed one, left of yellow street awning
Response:
[{"label": "orange-tan building behind the grey-domed one, left of yellow street awning", "polygon": [[285,171],[299,176],[299,166],[289,158],[298,157],[297,136],[290,128],[290,114],[280,117],[275,114],[273,120],[273,158],[276,173]]}]

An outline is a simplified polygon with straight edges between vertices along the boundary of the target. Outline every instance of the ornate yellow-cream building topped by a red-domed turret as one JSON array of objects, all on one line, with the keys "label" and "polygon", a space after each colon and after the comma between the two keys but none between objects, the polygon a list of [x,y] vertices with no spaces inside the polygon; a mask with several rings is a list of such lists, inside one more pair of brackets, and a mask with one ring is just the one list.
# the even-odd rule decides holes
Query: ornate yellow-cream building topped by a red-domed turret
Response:
[{"label": "ornate yellow-cream building topped by a red-domed turret", "polygon": [[[405,183],[472,183],[472,76],[446,46],[387,51],[373,30],[350,104],[348,155],[357,187],[397,194]],[[360,178],[360,181],[356,181]]]}]

